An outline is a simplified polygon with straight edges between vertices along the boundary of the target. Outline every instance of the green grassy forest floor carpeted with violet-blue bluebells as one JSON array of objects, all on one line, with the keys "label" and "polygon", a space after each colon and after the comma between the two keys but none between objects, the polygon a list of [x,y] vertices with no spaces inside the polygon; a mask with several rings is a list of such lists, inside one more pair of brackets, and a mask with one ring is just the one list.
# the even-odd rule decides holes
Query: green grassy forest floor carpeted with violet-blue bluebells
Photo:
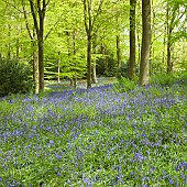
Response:
[{"label": "green grassy forest floor carpeted with violet-blue bluebells", "polygon": [[1,99],[0,186],[185,187],[186,98],[178,82]]}]

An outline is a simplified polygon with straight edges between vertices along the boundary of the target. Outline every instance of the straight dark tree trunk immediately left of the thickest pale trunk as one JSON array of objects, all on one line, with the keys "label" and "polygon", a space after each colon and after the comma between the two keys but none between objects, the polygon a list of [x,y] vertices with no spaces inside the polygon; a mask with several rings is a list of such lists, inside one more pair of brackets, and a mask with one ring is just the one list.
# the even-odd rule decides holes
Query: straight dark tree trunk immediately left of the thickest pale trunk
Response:
[{"label": "straight dark tree trunk immediately left of the thickest pale trunk", "polygon": [[134,78],[135,67],[135,4],[136,0],[130,0],[130,62],[129,78]]}]

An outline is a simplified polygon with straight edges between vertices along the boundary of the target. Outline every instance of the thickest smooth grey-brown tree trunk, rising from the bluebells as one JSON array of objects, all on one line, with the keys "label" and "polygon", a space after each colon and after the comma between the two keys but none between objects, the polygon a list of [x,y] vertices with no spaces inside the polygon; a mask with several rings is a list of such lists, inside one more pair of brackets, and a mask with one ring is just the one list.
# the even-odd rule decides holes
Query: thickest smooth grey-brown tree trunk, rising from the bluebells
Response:
[{"label": "thickest smooth grey-brown tree trunk, rising from the bluebells", "polygon": [[141,86],[148,84],[150,77],[150,48],[151,48],[151,2],[142,0],[142,48],[140,78]]}]

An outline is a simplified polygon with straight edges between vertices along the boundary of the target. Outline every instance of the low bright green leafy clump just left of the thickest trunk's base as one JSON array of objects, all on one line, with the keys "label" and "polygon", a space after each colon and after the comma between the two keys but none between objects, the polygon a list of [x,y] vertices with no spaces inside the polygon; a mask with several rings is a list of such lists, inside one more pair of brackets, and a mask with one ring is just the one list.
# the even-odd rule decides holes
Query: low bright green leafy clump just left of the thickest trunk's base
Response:
[{"label": "low bright green leafy clump just left of the thickest trunk's base", "polygon": [[133,90],[136,87],[136,79],[130,80],[129,78],[121,77],[113,88],[117,92],[125,92]]}]

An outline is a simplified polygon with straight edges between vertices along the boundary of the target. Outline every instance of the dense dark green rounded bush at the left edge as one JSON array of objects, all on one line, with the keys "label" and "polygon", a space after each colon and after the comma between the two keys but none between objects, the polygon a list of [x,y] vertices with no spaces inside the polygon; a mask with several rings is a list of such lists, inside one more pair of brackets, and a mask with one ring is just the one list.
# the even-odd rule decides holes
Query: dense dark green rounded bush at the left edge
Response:
[{"label": "dense dark green rounded bush at the left edge", "polygon": [[9,94],[26,94],[32,89],[29,65],[16,59],[0,61],[0,97]]}]

